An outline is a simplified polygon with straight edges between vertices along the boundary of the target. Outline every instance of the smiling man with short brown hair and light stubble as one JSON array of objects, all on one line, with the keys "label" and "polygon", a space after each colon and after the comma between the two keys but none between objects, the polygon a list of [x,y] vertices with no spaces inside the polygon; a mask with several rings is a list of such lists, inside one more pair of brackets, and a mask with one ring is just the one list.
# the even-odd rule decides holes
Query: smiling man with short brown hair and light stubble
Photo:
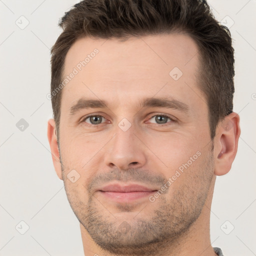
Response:
[{"label": "smiling man with short brown hair and light stubble", "polygon": [[48,140],[84,254],[222,255],[209,216],[240,134],[229,31],[196,0],[84,0],[60,26]]}]

